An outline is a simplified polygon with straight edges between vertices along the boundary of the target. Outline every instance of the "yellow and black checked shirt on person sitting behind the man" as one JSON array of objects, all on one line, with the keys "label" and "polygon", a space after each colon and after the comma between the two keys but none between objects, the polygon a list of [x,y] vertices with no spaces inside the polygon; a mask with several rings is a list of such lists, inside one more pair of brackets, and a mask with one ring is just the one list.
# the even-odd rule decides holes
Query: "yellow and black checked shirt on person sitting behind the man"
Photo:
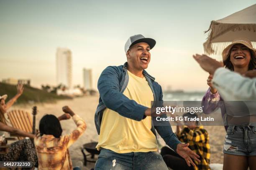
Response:
[{"label": "yellow and black checked shirt on person sitting behind the man", "polygon": [[183,130],[176,134],[179,140],[183,143],[189,143],[189,148],[200,156],[195,170],[210,170],[210,144],[209,135],[203,126],[191,130],[184,126]]}]

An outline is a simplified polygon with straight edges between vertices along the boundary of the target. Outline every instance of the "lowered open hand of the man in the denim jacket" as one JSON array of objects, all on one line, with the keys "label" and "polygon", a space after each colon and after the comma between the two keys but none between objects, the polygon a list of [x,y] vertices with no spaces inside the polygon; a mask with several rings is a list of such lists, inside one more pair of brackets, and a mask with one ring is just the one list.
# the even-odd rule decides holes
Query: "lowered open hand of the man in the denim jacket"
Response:
[{"label": "lowered open hand of the man in the denim jacket", "polygon": [[[194,153],[192,150],[190,150],[188,148],[189,144],[182,144],[179,143],[177,145],[177,153],[186,160],[187,165],[190,167],[190,164],[192,164],[192,166],[196,166],[195,163],[193,163],[192,159],[196,160],[198,163],[200,163],[200,160],[198,158],[200,158],[199,155],[197,155],[196,153]],[[192,159],[191,159],[192,158]]]}]

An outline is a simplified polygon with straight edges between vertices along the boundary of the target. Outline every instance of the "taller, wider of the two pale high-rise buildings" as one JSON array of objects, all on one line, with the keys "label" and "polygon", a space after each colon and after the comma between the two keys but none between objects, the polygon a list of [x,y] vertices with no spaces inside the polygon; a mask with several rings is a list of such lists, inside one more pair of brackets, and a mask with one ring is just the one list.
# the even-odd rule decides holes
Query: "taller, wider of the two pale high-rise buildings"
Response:
[{"label": "taller, wider of the two pale high-rise buildings", "polygon": [[57,48],[56,80],[57,85],[72,87],[72,53],[68,48]]}]

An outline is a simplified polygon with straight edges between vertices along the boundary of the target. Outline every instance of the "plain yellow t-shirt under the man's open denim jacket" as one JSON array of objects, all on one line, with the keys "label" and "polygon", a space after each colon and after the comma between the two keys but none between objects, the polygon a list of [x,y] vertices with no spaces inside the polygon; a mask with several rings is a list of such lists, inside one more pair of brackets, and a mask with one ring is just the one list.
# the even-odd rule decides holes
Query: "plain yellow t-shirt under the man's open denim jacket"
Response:
[{"label": "plain yellow t-shirt under the man's open denim jacket", "polygon": [[[129,82],[123,95],[140,105],[151,107],[154,95],[146,78],[127,72]],[[106,108],[102,116],[97,150],[100,147],[116,153],[156,151],[156,136],[151,131],[151,116],[136,121]]]}]

